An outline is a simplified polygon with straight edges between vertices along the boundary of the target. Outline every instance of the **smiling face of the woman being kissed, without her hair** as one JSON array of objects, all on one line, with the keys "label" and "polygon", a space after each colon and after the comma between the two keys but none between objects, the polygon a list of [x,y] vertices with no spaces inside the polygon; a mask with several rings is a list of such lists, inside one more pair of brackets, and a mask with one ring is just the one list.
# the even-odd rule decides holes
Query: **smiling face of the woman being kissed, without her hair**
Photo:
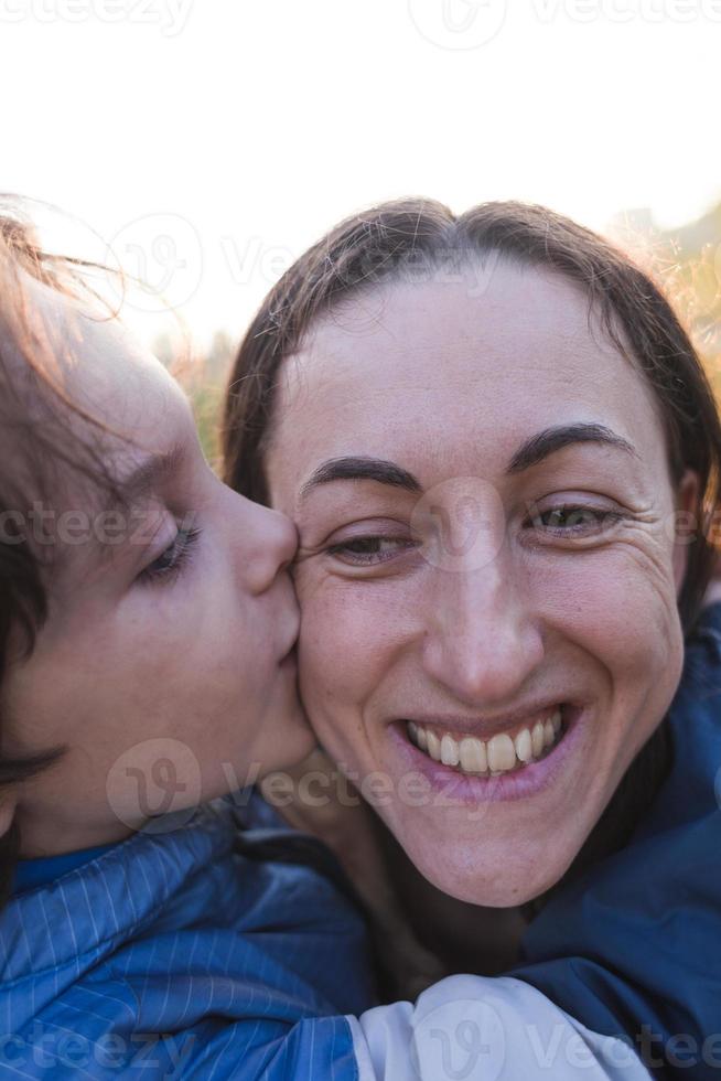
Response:
[{"label": "smiling face of the woman being kissed, without her hair", "polygon": [[[652,392],[560,277],[348,302],[286,362],[301,694],[435,886],[555,884],[680,677],[684,548]],[[377,774],[372,777],[372,774]]]}]

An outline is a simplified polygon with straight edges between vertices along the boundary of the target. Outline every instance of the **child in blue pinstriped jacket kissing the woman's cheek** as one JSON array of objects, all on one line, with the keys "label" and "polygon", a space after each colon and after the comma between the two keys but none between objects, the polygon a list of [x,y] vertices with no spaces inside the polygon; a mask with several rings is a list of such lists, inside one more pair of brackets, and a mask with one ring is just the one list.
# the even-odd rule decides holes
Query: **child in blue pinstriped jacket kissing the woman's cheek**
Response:
[{"label": "child in blue pinstriped jacket kissing the woman's cheek", "polygon": [[313,746],[294,529],[97,308],[2,221],[0,1077],[280,1078],[374,1000],[353,906],[212,802]]}]

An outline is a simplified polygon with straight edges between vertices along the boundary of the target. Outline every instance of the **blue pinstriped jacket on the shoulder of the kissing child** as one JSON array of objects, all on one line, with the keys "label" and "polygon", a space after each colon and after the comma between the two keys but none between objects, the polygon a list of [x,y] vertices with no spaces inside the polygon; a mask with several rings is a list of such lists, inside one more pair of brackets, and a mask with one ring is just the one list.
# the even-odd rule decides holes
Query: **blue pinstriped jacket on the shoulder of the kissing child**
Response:
[{"label": "blue pinstriped jacket on the shoulder of the kissing child", "polygon": [[243,1048],[246,1023],[268,1042],[374,1005],[363,920],[302,853],[272,858],[268,842],[293,831],[241,828],[236,812],[217,801],[13,899],[1,917],[9,1030],[72,1012],[88,1040],[132,1041],[225,1017]]}]

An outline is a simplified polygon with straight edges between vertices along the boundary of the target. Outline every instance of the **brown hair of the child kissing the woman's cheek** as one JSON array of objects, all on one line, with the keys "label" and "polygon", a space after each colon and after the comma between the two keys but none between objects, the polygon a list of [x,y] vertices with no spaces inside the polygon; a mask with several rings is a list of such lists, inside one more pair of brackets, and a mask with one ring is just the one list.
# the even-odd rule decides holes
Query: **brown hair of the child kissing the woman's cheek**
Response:
[{"label": "brown hair of the child kissing the woman's cheek", "polygon": [[[0,681],[13,664],[33,652],[47,618],[52,549],[40,547],[28,522],[33,501],[52,490],[51,464],[65,464],[93,481],[107,483],[97,448],[76,431],[68,411],[96,421],[67,399],[50,374],[57,343],[35,310],[32,282],[68,299],[95,297],[77,260],[43,251],[31,224],[13,204],[0,208]],[[97,299],[97,298],[96,298]],[[47,361],[51,361],[47,364]],[[0,687],[2,684],[0,684]],[[0,732],[4,695],[0,693]],[[24,757],[0,754],[0,803],[3,792],[52,766],[62,747]],[[15,820],[0,836],[0,908],[12,889],[20,853]]]}]

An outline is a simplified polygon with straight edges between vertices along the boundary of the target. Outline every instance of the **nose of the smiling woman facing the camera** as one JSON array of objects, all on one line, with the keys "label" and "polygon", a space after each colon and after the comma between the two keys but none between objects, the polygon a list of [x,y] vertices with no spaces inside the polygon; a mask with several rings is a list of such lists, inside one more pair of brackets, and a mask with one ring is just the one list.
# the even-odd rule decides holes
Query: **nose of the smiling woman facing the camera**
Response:
[{"label": "nose of the smiling woman facing the camera", "polygon": [[504,703],[544,656],[539,628],[503,556],[473,570],[437,571],[428,595],[423,666],[459,700]]}]

